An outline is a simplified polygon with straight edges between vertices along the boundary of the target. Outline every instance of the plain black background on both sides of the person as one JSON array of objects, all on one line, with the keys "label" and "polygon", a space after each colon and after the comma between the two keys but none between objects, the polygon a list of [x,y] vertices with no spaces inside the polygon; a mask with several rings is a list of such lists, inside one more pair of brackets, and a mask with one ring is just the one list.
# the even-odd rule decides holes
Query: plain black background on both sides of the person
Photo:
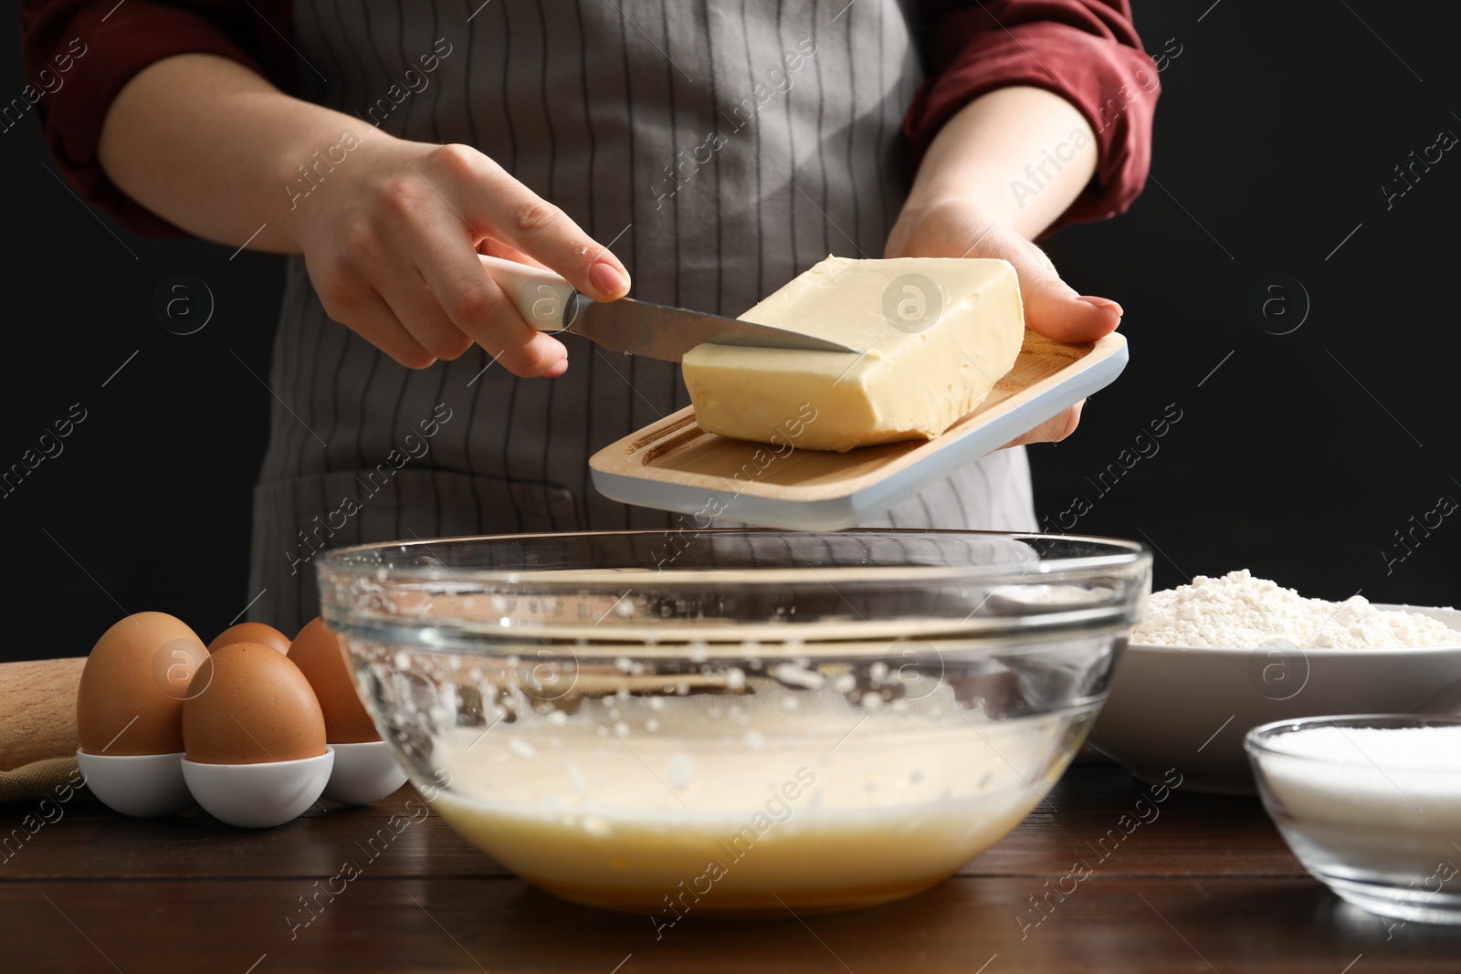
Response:
[{"label": "plain black background on both sides of the person", "polygon": [[[1052,527],[1147,542],[1157,587],[1251,568],[1308,596],[1458,600],[1461,514],[1416,530],[1408,551],[1395,539],[1439,498],[1461,501],[1461,150],[1388,207],[1381,190],[1411,150],[1461,134],[1455,25],[1417,10],[1137,3],[1147,50],[1178,51],[1153,178],[1125,216],[1048,244],[1080,292],[1121,301],[1132,362],[1075,438],[1031,450]],[[13,22],[0,57],[0,83],[19,92]],[[270,397],[257,377],[281,260],[105,223],[58,181],[29,120],[0,133],[0,467],[73,403],[86,410],[64,451],[0,498],[0,659],[82,656],[143,609],[210,638],[257,594],[248,517]],[[187,336],[152,307],[180,273],[215,304]],[[1264,299],[1267,317],[1252,310]],[[1138,444],[1173,404],[1180,419]]]}]

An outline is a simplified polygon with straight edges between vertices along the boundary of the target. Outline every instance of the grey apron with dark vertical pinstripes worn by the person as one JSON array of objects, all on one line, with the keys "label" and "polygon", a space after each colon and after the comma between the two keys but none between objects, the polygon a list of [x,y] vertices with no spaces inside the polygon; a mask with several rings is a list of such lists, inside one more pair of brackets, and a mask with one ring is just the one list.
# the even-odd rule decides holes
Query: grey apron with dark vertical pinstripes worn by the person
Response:
[{"label": "grey apron with dark vertical pinstripes worn by the person", "polygon": [[[304,98],[476,146],[612,241],[634,296],[730,315],[827,254],[882,256],[909,183],[913,29],[896,0],[294,4]],[[599,495],[587,459],[687,406],[679,367],[565,343],[555,380],[516,378],[479,348],[408,369],[330,321],[292,257],[250,618],[294,632],[316,615],[326,548],[676,526]],[[869,526],[1034,530],[1024,450]]]}]

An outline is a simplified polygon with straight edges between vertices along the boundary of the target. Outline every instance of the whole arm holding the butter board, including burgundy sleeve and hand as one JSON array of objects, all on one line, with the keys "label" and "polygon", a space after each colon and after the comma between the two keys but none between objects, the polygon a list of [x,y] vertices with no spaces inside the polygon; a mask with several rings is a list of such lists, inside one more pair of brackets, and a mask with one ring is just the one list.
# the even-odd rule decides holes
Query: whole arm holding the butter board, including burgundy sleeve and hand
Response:
[{"label": "whole arm holding the butter board, including burgundy sleeve and hand", "polygon": [[[1121,323],[1031,241],[1125,210],[1151,158],[1160,89],[1128,0],[923,0],[929,80],[904,130],[918,164],[888,257],[1002,257],[1026,324],[1088,342]],[[1015,442],[1062,440],[1081,406]],[[1012,445],[1012,444],[1011,444]]]}]

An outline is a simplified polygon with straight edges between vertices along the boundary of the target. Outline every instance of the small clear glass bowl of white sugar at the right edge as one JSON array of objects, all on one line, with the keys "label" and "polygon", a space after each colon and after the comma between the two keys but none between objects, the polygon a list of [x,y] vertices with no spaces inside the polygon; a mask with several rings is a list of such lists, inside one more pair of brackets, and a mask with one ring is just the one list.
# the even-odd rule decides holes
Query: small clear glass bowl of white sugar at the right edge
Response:
[{"label": "small clear glass bowl of white sugar at the right edge", "polygon": [[1245,746],[1264,808],[1318,881],[1382,917],[1461,924],[1461,717],[1284,720]]}]

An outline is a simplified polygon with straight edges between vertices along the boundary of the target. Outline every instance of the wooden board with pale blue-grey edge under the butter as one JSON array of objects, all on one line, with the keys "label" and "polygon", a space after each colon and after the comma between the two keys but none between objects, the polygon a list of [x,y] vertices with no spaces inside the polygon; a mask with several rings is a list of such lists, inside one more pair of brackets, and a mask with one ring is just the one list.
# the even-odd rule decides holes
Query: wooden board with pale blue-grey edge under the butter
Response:
[{"label": "wooden board with pale blue-grey edge under the butter", "polygon": [[[847,453],[780,448],[709,434],[694,407],[665,416],[590,460],[600,494],[710,520],[792,530],[842,530],[881,514],[954,470],[1034,429],[1112,383],[1126,367],[1126,339],[1065,345],[1026,330],[1014,368],[993,391],[934,440]],[[736,476],[739,473],[739,476]]]}]

